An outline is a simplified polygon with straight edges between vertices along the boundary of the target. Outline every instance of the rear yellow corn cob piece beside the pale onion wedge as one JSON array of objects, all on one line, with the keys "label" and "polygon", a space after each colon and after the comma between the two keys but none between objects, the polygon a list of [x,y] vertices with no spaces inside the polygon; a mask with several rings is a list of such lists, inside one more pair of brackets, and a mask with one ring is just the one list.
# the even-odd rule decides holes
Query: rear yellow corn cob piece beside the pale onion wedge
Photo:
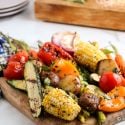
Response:
[{"label": "rear yellow corn cob piece beside the pale onion wedge", "polygon": [[106,55],[89,42],[80,42],[76,45],[75,60],[94,72],[100,60],[106,59]]}]

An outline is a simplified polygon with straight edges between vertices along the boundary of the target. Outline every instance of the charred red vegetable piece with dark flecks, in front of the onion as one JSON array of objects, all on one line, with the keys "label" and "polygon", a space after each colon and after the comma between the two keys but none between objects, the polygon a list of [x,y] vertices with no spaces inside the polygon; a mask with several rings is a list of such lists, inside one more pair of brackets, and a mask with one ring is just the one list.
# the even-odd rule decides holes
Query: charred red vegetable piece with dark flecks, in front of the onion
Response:
[{"label": "charred red vegetable piece with dark flecks, in front of the onion", "polygon": [[40,48],[38,58],[46,65],[50,65],[57,58],[71,59],[72,57],[61,47],[47,42]]}]

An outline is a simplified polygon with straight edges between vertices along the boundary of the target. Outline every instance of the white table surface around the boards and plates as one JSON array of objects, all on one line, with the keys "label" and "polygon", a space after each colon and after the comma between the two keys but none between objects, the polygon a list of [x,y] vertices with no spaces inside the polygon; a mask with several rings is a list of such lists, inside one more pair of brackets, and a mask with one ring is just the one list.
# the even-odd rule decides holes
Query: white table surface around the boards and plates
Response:
[{"label": "white table surface around the boards and plates", "polygon": [[[125,32],[42,22],[35,18],[33,8],[33,0],[30,0],[24,12],[0,19],[0,31],[25,40],[34,47],[37,46],[35,44],[37,40],[50,41],[51,35],[55,32],[76,31],[84,41],[98,41],[102,46],[112,42],[120,48],[121,53],[125,53]],[[121,122],[118,125],[124,124],[125,122]],[[0,125],[34,125],[34,123],[2,99],[0,100]]]}]

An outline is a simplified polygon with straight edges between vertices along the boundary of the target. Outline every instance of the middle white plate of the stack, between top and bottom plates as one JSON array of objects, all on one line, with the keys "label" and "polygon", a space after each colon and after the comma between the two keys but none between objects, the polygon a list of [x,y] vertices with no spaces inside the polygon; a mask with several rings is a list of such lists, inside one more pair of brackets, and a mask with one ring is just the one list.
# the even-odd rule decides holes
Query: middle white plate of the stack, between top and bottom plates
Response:
[{"label": "middle white plate of the stack, between top and bottom plates", "polygon": [[27,0],[26,2],[24,2],[24,3],[22,3],[22,4],[18,5],[18,6],[15,6],[15,7],[7,8],[7,9],[0,9],[0,14],[1,13],[7,13],[7,12],[10,12],[10,11],[15,11],[17,9],[20,9],[20,8],[26,6],[28,3],[29,3],[29,1]]}]

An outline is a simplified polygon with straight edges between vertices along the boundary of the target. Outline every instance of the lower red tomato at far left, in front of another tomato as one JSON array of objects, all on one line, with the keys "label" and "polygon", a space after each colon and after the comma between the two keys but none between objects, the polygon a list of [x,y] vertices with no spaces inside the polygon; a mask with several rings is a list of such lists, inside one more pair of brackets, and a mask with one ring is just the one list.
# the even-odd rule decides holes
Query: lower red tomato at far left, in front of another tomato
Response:
[{"label": "lower red tomato at far left, in front of another tomato", "polygon": [[7,79],[22,79],[24,68],[20,62],[11,61],[7,68],[3,71],[4,77]]}]

